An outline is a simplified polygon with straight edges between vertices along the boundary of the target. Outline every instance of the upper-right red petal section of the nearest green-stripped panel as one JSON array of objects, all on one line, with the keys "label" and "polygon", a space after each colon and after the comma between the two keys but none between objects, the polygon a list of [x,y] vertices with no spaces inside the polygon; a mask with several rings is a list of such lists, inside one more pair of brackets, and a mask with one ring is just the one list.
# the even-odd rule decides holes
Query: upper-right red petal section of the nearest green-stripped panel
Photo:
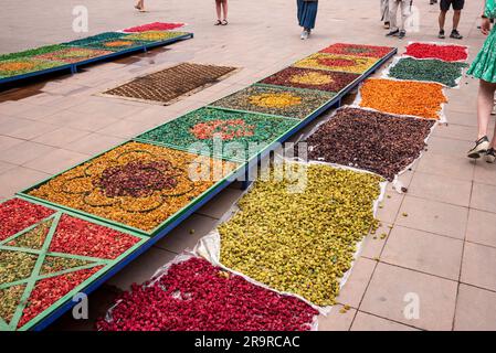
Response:
[{"label": "upper-right red petal section of the nearest green-stripped panel", "polygon": [[139,238],[97,224],[63,215],[50,252],[114,259]]}]

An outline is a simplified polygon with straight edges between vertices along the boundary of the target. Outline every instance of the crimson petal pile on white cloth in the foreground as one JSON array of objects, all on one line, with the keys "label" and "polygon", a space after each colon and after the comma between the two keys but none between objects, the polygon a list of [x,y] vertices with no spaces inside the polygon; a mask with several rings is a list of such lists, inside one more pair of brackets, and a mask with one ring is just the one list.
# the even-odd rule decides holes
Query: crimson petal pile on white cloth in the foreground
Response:
[{"label": "crimson petal pile on white cloth in the foreground", "polygon": [[101,319],[104,331],[302,331],[318,312],[204,259],[172,265],[152,286],[134,285]]}]

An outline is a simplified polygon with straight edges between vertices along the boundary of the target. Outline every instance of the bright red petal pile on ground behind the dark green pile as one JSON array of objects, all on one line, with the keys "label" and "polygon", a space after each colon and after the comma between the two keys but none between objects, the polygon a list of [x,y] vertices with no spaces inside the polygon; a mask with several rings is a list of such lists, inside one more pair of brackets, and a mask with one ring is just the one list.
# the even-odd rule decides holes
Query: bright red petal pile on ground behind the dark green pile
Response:
[{"label": "bright red petal pile on ground behind the dark green pile", "polygon": [[405,55],[416,58],[437,58],[445,62],[460,62],[468,58],[466,46],[430,43],[412,43],[407,46]]}]

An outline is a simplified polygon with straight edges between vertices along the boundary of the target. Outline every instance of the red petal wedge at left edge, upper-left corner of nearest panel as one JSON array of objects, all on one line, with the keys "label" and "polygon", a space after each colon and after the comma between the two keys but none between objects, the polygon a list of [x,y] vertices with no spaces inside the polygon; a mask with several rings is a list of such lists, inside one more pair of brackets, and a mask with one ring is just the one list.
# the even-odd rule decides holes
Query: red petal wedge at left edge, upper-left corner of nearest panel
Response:
[{"label": "red petal wedge at left edge, upper-left corner of nearest panel", "polygon": [[0,204],[0,240],[46,218],[54,212],[21,199],[6,201]]}]

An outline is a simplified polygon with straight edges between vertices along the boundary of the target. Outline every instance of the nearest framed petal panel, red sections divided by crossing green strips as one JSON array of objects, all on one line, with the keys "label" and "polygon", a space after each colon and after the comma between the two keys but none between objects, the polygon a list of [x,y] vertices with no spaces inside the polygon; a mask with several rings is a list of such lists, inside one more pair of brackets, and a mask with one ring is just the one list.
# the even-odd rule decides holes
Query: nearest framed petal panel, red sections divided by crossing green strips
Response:
[{"label": "nearest framed petal panel, red sections divided by crossing green strips", "polygon": [[32,328],[144,243],[20,199],[0,204],[0,226],[8,216],[25,228],[0,240],[0,331]]}]

